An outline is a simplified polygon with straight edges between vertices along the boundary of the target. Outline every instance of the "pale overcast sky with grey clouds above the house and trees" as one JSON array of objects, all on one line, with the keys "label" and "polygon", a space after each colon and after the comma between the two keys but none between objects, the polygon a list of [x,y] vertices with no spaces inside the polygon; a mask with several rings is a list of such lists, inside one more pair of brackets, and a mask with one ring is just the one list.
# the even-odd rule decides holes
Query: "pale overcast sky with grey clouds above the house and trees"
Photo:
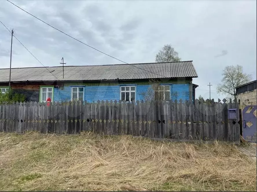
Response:
[{"label": "pale overcast sky with grey clouds above the house and trees", "polygon": [[[193,60],[196,97],[216,93],[226,65],[243,65],[256,79],[256,1],[10,0],[73,37],[127,63],[155,62],[164,44]],[[0,20],[45,65],[120,64],[1,0]],[[0,23],[0,68],[10,65],[10,33]],[[40,67],[13,40],[12,67]]]}]

